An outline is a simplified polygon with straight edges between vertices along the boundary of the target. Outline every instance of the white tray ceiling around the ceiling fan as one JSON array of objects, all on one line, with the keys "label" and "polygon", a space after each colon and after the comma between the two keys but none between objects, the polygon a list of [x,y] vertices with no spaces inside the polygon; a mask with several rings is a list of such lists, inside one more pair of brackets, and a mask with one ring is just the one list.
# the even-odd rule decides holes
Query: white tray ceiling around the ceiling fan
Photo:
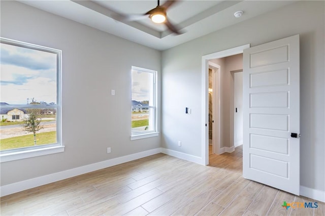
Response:
[{"label": "white tray ceiling around the ceiling fan", "polygon": [[[184,33],[180,35],[171,33],[164,24],[152,23],[149,18],[133,22],[120,22],[112,18],[119,14],[144,14],[157,6],[156,0],[19,2],[156,50],[166,50],[295,1],[178,1],[169,8],[167,16],[182,29]],[[165,2],[160,1],[160,5]],[[235,18],[236,11],[243,11],[243,16]]]}]

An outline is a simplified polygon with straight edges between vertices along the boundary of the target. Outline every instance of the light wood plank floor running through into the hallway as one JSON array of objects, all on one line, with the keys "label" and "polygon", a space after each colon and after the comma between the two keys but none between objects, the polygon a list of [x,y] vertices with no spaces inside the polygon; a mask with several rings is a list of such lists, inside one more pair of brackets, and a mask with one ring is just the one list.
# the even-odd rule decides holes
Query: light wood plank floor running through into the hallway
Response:
[{"label": "light wood plank floor running through into the hallway", "polygon": [[203,166],[165,154],[1,198],[1,215],[324,215],[314,202],[242,178],[242,149]]}]

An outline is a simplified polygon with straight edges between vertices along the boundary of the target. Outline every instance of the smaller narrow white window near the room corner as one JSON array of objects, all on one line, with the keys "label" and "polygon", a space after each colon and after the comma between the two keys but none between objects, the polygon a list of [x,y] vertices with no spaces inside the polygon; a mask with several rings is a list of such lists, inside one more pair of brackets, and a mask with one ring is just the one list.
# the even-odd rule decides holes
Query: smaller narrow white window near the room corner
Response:
[{"label": "smaller narrow white window near the room corner", "polygon": [[132,67],[132,140],[158,135],[156,73]]}]

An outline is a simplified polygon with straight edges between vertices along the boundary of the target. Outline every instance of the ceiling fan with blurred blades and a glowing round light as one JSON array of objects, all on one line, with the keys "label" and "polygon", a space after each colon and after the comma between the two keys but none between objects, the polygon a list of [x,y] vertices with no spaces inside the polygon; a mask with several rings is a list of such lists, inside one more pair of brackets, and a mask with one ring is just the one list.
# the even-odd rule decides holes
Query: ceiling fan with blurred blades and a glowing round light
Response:
[{"label": "ceiling fan with blurred blades and a glowing round light", "polygon": [[169,9],[176,2],[177,0],[166,1],[163,5],[160,5],[160,1],[157,0],[157,7],[151,9],[147,13],[143,15],[136,15],[136,16],[126,15],[125,18],[128,21],[135,21],[135,20],[141,20],[149,17],[152,20],[152,22],[164,23],[168,27],[168,29],[171,30],[172,32],[176,34],[182,34],[182,32],[180,32],[180,30],[175,25],[173,25],[167,18],[167,9]]}]

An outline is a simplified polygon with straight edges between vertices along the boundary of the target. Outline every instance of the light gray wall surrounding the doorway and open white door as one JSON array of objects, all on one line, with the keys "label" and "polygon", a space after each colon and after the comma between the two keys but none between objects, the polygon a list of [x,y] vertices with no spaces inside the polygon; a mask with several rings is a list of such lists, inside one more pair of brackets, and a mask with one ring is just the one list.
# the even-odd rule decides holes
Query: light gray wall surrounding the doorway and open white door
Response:
[{"label": "light gray wall surrounding the doorway and open white door", "polygon": [[[202,56],[300,34],[301,185],[325,191],[324,2],[299,1],[163,52],[162,146],[201,152]],[[192,114],[184,114],[185,107]],[[182,141],[182,147],[177,147]]]}]

